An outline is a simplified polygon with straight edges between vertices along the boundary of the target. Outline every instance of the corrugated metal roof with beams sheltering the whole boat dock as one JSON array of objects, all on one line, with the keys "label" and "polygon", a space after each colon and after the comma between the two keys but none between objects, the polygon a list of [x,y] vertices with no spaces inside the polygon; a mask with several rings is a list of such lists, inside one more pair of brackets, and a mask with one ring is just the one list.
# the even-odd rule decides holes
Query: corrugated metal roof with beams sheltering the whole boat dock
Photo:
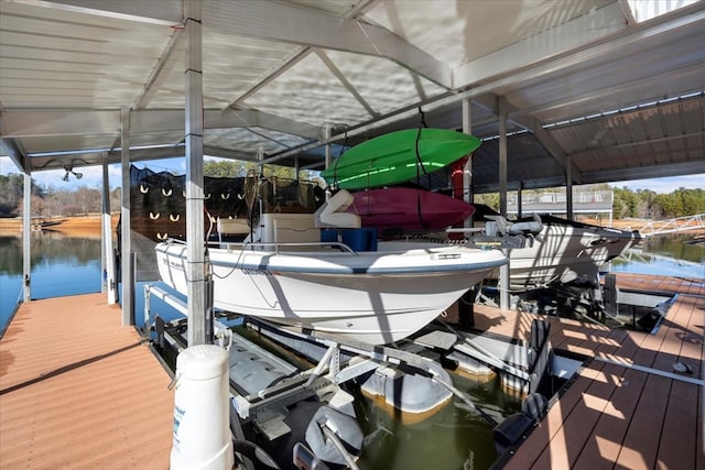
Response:
[{"label": "corrugated metal roof with beams sheltering the whole boat dock", "polygon": [[[654,11],[659,10],[660,11]],[[662,13],[654,15],[654,13]],[[705,1],[204,0],[206,155],[323,170],[329,142],[463,127],[478,192],[705,173]],[[0,0],[0,154],[181,156],[182,0]]]}]

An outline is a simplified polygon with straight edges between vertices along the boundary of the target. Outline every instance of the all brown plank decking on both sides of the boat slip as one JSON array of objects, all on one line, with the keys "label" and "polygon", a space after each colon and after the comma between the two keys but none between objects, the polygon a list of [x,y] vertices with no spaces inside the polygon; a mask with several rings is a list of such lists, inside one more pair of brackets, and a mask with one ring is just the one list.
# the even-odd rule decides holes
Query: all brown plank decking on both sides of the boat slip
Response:
[{"label": "all brown plank decking on both sides of the boat slip", "polygon": [[[505,468],[705,468],[705,285],[625,274],[617,282],[680,296],[657,335],[542,317],[555,348],[594,359]],[[523,339],[540,317],[475,313],[477,328]],[[676,361],[693,372],[673,373]],[[169,382],[104,295],[22,305],[0,340],[0,468],[167,468]]]}]

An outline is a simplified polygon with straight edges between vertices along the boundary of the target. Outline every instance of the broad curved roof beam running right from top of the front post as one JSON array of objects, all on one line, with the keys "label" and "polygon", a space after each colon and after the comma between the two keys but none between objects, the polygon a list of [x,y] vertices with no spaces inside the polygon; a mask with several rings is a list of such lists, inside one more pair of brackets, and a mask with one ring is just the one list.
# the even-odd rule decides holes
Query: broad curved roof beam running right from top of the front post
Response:
[{"label": "broad curved roof beam running right from top of the front post", "polygon": [[384,28],[355,19],[289,3],[238,0],[206,3],[203,21],[224,34],[387,57],[444,88],[453,85],[448,65]]}]

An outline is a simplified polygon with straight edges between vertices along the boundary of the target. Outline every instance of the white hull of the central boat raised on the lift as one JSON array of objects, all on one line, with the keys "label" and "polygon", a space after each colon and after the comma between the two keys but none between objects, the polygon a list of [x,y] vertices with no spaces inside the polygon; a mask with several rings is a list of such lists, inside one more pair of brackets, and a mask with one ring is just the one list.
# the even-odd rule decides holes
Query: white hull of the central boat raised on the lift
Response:
[{"label": "white hull of the central boat raised on the lift", "polygon": [[[389,245],[401,248],[402,244]],[[186,249],[160,243],[162,281],[186,293]],[[506,263],[495,250],[282,253],[210,249],[216,308],[373,345],[403,339]]]}]

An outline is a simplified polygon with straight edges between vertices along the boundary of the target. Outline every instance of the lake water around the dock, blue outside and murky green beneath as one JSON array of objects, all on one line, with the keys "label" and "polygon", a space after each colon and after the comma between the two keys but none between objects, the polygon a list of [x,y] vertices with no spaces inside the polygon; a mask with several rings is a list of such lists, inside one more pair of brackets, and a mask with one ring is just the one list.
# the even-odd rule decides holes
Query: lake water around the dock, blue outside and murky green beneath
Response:
[{"label": "lake water around the dock, blue outside and murky green beneath", "polygon": [[[705,245],[683,243],[686,239],[661,237],[650,240],[627,259],[612,262],[609,269],[705,278]],[[40,231],[32,232],[31,242],[33,298],[100,292],[99,239]],[[4,330],[22,294],[21,243],[19,236],[0,236],[0,331]],[[143,291],[138,286],[138,324],[142,320],[143,302]],[[178,316],[159,299],[153,302],[154,310],[166,319]],[[475,403],[500,415],[508,416],[520,408],[520,398],[507,394],[499,379],[475,381],[454,376],[454,383]],[[438,470],[487,469],[497,457],[491,426],[455,405],[445,406],[432,418],[416,424],[401,423],[364,397],[357,401],[357,406],[368,436],[360,468],[405,469],[429,464]],[[420,463],[419,459],[432,461]]]}]

